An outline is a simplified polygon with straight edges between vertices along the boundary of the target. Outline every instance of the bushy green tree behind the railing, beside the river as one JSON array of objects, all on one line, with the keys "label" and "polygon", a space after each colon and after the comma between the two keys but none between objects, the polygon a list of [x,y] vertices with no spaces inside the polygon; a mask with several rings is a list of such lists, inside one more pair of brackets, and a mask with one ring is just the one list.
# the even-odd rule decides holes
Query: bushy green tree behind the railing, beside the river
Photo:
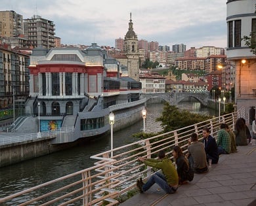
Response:
[{"label": "bushy green tree behind the railing, beside the river", "polygon": [[165,103],[163,112],[156,121],[161,122],[163,131],[167,132],[203,122],[209,118],[211,118],[211,116],[195,114],[186,110],[179,110],[178,107]]}]

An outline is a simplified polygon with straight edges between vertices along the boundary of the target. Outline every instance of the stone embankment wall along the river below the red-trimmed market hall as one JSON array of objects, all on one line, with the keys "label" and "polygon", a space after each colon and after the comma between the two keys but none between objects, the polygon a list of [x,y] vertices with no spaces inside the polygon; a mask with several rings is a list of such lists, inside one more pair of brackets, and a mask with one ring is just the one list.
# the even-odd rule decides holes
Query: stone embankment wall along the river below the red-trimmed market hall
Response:
[{"label": "stone embankment wall along the river below the red-trimmed market hall", "polygon": [[[144,104],[141,104],[135,107],[114,111],[114,131],[131,126],[136,122],[142,120],[141,111],[143,108]],[[16,136],[19,135],[19,133],[16,133]],[[39,139],[31,139],[28,141],[0,145],[0,167],[23,162],[32,158],[37,158],[39,156],[45,156],[53,152],[68,149],[72,146],[79,144],[81,141],[90,140],[90,138],[80,138],[72,143],[52,144],[51,141],[54,138],[54,136],[42,137]],[[93,137],[93,139],[95,138],[97,138],[97,136]]]}]

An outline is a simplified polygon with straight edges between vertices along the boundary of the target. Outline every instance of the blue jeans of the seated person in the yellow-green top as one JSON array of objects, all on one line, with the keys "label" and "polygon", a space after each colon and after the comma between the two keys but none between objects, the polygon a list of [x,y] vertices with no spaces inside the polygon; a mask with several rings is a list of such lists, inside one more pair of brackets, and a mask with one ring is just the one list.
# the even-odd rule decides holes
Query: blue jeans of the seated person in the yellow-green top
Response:
[{"label": "blue jeans of the seated person in the yellow-green top", "polygon": [[146,192],[146,190],[148,190],[155,183],[168,194],[173,194],[177,190],[177,188],[169,186],[163,173],[157,172],[154,175],[151,175],[150,179],[148,179],[148,181],[142,186],[142,191]]}]

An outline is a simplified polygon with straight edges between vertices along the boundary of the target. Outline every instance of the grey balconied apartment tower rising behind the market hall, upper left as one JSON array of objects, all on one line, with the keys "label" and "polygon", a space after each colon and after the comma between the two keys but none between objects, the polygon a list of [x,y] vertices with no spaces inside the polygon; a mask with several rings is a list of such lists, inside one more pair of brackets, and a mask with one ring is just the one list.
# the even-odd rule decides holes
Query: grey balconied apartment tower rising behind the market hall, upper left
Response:
[{"label": "grey balconied apartment tower rising behind the market hall, upper left", "polygon": [[28,45],[38,48],[53,48],[55,25],[52,21],[34,15],[24,20],[24,37]]}]

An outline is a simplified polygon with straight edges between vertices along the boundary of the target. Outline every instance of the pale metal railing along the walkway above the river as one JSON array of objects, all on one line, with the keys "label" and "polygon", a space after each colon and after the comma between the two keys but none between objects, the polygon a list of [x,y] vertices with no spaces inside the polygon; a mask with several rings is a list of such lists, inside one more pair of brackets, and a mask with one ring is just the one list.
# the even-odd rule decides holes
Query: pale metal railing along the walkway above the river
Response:
[{"label": "pale metal railing along the walkway above the river", "polygon": [[212,118],[186,128],[170,131],[148,139],[91,156],[96,160],[95,166],[77,171],[70,175],[45,182],[33,188],[3,197],[0,203],[13,205],[116,205],[123,194],[135,188],[139,177],[146,179],[153,173],[150,167],[137,162],[138,156],[156,158],[160,150],[171,155],[175,145],[187,151],[191,133],[198,133],[202,139],[202,128],[207,126],[211,135],[217,137],[222,122],[234,128],[237,112]]}]

